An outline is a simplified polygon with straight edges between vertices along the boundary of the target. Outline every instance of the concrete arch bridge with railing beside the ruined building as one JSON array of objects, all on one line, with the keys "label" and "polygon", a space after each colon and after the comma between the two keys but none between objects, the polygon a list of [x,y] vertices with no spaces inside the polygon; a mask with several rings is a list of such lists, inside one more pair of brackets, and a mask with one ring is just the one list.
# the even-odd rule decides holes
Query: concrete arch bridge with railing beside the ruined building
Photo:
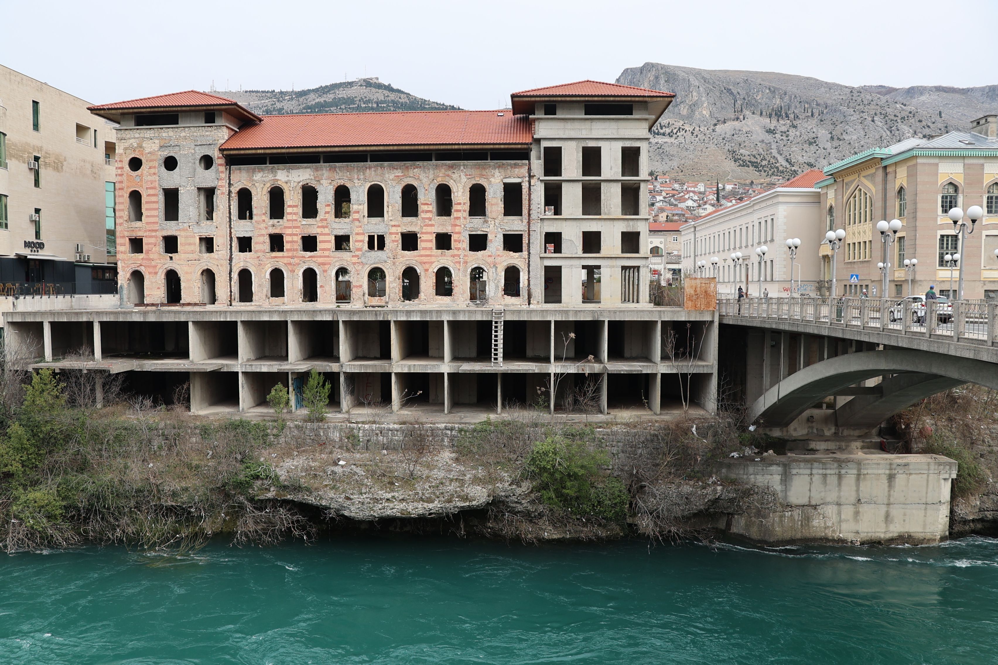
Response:
[{"label": "concrete arch bridge with railing beside the ruined building", "polygon": [[749,421],[809,434],[868,432],[935,393],[998,390],[998,312],[984,301],[719,299],[722,381]]}]

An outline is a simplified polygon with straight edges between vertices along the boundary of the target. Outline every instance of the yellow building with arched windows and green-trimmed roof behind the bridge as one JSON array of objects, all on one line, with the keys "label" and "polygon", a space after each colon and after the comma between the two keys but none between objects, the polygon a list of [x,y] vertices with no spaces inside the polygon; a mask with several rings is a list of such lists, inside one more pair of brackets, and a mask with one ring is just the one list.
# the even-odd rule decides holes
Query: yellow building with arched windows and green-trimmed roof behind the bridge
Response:
[{"label": "yellow building with arched windows and green-trimmed roof behind the bridge", "polygon": [[[985,116],[969,131],[934,139],[908,139],[889,148],[873,148],[826,166],[821,190],[823,231],[841,228],[842,245],[835,253],[838,295],[883,295],[877,263],[889,263],[887,296],[908,293],[904,259],[917,258],[911,270],[911,292],[924,293],[930,284],[949,294],[947,253],[961,254],[964,297],[998,299],[998,116]],[[983,217],[958,247],[952,207],[979,205]],[[883,242],[876,222],[899,219],[896,242]],[[967,219],[969,223],[969,219]],[[831,282],[832,250],[822,243],[822,291]],[[956,290],[956,271],[954,286]],[[850,281],[850,275],[857,279]]]}]

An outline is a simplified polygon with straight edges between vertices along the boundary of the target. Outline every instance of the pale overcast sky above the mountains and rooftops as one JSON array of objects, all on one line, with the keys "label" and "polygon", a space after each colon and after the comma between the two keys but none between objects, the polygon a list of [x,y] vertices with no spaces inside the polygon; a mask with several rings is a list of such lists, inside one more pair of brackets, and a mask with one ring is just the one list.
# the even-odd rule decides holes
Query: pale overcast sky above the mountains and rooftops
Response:
[{"label": "pale overcast sky above the mountains and rooftops", "polygon": [[4,0],[0,11],[0,63],[94,103],[377,76],[492,109],[511,92],[614,81],[645,62],[856,86],[998,84],[998,39],[981,29],[998,23],[996,0]]}]

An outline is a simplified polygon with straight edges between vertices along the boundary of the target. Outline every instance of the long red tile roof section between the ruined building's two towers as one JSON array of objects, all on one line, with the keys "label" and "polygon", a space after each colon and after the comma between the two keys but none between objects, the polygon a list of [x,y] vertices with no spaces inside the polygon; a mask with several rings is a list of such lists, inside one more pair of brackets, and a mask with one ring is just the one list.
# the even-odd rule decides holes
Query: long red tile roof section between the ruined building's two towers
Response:
[{"label": "long red tile roof section between the ruined building's two towers", "polygon": [[[503,115],[499,115],[503,114]],[[533,141],[530,121],[509,111],[400,111],[264,116],[222,150],[361,146],[516,146]]]}]

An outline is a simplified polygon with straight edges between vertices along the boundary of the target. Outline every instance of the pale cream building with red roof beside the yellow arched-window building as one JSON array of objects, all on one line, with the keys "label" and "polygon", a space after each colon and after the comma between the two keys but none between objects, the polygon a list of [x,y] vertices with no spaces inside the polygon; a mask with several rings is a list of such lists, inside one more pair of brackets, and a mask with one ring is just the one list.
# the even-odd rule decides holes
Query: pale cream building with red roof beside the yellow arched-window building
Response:
[{"label": "pale cream building with red roof beside the yellow arched-window building", "polygon": [[[824,229],[820,192],[814,183],[823,175],[820,169],[811,168],[741,203],[684,224],[683,272],[717,276],[719,295],[735,295],[739,286],[753,296],[763,291],[770,296],[818,295],[820,265],[813,254]],[[787,238],[800,240],[793,261]],[[755,249],[763,245],[767,251],[760,260]],[[742,252],[740,260],[731,258],[736,252]],[[706,261],[706,266],[698,267],[700,261]]]}]

